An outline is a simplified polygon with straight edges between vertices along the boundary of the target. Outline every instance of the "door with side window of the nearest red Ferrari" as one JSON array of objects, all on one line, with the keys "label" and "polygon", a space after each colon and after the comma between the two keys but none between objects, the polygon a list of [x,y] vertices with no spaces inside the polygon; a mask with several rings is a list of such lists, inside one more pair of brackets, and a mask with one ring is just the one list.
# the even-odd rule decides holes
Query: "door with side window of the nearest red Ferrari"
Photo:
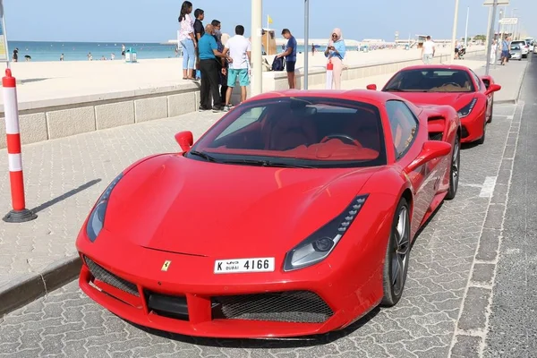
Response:
[{"label": "door with side window of the nearest red Ferrari", "polygon": [[[418,117],[402,100],[388,100],[386,110],[396,154],[396,164],[404,171],[417,158],[425,141],[429,140],[427,127],[420,128]],[[439,186],[439,161],[434,159],[408,173],[413,190],[412,233],[415,234],[430,207]]]}]

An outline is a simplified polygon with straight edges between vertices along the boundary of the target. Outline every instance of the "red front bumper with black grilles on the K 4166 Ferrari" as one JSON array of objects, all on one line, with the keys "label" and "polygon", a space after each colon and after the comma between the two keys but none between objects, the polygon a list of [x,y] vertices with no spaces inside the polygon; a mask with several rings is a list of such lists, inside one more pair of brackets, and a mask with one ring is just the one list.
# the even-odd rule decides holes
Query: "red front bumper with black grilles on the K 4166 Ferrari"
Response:
[{"label": "red front bumper with black grilles on the K 4166 Ferrari", "polygon": [[287,273],[277,267],[215,277],[214,259],[104,236],[95,243],[79,236],[79,285],[107,310],[149,328],[198,337],[301,337],[346,327],[382,295],[382,260],[371,251],[352,262],[333,251],[326,262]]}]

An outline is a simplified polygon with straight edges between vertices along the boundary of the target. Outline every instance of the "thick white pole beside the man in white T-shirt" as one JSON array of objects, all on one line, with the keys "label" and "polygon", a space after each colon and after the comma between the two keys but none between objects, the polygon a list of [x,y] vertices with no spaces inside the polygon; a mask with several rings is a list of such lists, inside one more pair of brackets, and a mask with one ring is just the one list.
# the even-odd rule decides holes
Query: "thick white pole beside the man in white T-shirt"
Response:
[{"label": "thick white pole beside the man in white T-shirt", "polygon": [[263,1],[251,0],[251,97],[263,91]]}]

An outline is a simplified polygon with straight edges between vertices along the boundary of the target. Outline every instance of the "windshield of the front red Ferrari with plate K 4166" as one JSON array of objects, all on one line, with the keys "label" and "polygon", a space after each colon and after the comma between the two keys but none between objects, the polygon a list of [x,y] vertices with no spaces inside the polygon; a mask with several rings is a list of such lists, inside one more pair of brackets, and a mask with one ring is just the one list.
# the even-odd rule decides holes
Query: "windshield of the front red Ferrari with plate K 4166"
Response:
[{"label": "windshield of the front red Ferrari with plate K 4166", "polygon": [[337,98],[246,102],[206,132],[187,158],[282,167],[386,165],[379,108]]}]

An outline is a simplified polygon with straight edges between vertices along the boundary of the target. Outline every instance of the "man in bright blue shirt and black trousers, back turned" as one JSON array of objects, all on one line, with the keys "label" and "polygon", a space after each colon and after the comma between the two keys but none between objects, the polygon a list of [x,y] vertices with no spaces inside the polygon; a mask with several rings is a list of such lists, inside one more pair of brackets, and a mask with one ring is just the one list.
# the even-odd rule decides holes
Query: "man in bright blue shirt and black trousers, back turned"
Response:
[{"label": "man in bright blue shirt and black trousers, back turned", "polygon": [[[222,100],[218,86],[220,83],[220,71],[225,72],[225,69],[219,71],[219,60],[217,57],[225,57],[218,51],[217,40],[214,37],[214,27],[207,25],[205,34],[201,36],[198,42],[198,50],[200,53],[200,72],[201,72],[201,87],[200,87],[200,111],[213,112],[222,111]],[[211,101],[212,95],[212,101]],[[214,104],[213,104],[214,102]]]}]

